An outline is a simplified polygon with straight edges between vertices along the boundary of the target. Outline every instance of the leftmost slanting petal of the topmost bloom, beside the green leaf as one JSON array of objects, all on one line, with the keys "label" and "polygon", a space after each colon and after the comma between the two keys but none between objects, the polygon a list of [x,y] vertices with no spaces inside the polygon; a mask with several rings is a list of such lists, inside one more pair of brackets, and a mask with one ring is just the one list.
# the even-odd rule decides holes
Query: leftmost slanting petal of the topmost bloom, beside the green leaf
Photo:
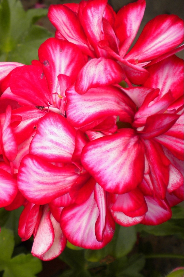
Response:
[{"label": "leftmost slanting petal of the topmost bloom, beside the green leaf", "polygon": [[48,18],[62,37],[79,46],[86,54],[91,54],[86,35],[77,14],[65,5],[50,5]]}]

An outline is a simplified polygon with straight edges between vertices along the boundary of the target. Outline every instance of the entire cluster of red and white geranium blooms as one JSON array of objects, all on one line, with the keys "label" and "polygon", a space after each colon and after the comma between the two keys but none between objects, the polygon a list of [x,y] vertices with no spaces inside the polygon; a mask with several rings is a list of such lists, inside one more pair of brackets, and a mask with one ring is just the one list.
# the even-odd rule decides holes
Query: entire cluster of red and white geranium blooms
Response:
[{"label": "entire cluster of red and white geranium blooms", "polygon": [[67,240],[104,247],[115,222],[163,223],[183,200],[183,61],[174,55],[183,21],[157,16],[127,53],[144,9],[145,0],[117,14],[107,0],[51,5],[56,36],[39,60],[0,63],[0,207],[24,205],[18,234],[33,234],[42,260]]}]

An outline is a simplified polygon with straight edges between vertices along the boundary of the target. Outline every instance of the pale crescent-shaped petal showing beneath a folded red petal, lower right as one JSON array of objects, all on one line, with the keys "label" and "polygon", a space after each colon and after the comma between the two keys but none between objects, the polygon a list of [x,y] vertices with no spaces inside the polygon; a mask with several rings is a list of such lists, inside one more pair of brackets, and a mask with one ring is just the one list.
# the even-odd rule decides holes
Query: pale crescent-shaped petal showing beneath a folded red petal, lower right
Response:
[{"label": "pale crescent-shaped petal showing beneath a folded red petal, lower right", "polygon": [[[112,195],[111,195],[111,198],[112,198]],[[129,227],[132,225],[136,225],[144,219],[145,215],[130,217],[125,215],[121,211],[113,211],[112,206],[114,201],[112,202],[112,200],[109,199],[108,202],[109,202],[109,209],[113,219],[116,221],[116,223],[120,224],[121,226]]]}]

